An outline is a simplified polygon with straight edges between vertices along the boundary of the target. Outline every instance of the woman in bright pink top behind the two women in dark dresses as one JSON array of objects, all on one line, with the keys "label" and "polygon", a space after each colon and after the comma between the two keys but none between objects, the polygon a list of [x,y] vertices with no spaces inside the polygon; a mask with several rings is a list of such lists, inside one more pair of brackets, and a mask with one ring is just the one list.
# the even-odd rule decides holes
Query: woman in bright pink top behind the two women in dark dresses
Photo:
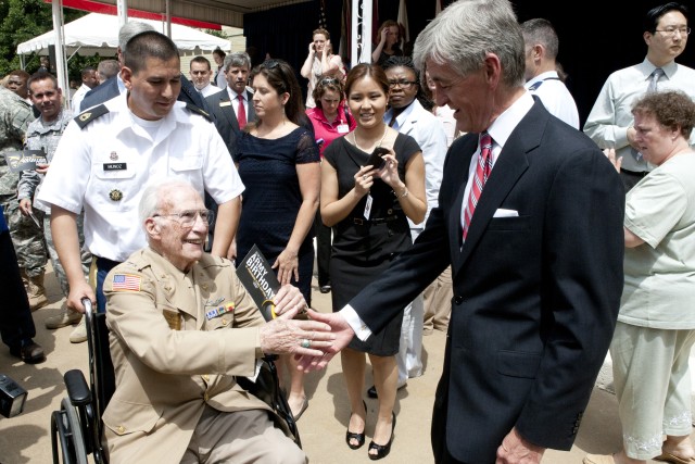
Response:
[{"label": "woman in bright pink top behind the two women in dark dresses", "polygon": [[[334,139],[355,129],[357,123],[350,114],[343,99],[342,83],[332,76],[325,75],[318,79],[314,88],[316,108],[306,110],[314,135],[320,149],[324,150]],[[318,267],[318,289],[321,293],[330,291],[330,227],[324,225],[320,212],[316,213],[316,265]]]}]

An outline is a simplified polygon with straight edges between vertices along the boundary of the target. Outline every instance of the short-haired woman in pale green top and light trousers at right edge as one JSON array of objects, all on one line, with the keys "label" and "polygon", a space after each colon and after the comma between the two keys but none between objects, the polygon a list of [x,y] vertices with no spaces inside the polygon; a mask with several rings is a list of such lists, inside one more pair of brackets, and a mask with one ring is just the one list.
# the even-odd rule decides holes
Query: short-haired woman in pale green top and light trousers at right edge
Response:
[{"label": "short-haired woman in pale green top and light trousers at right edge", "polygon": [[[680,91],[649,92],[632,114],[635,142],[656,167],[626,199],[624,287],[610,343],[623,449],[584,463],[695,463],[695,102]],[[606,152],[620,170],[622,159]]]}]

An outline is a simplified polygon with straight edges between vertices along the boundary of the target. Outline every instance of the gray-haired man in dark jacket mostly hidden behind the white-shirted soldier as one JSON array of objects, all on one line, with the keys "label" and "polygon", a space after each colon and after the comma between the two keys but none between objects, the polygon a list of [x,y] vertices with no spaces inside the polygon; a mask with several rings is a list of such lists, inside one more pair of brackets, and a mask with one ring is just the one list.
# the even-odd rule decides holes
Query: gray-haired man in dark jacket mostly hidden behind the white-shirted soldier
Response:
[{"label": "gray-haired man in dark jacket mostly hidden behind the white-shirted soldier", "polygon": [[[121,65],[121,67],[123,67],[124,63],[123,50],[125,50],[128,40],[147,30],[154,30],[154,27],[139,21],[130,21],[123,27],[121,27],[121,30],[118,30],[118,48],[116,50],[116,53],[118,55],[118,64]],[[125,84],[121,78],[121,73],[118,73],[115,76],[106,79],[103,84],[89,90],[85,95],[85,98],[83,99],[79,108],[75,108],[73,110],[76,112],[83,112],[88,108],[96,106],[111,100],[112,98],[116,98],[125,91]],[[184,74],[181,74],[181,91],[178,95],[178,100],[185,103],[193,104],[194,106],[200,108],[203,111],[207,111],[205,99],[203,99],[203,97],[198,93],[195,87],[191,84],[190,80],[186,78]]]}]

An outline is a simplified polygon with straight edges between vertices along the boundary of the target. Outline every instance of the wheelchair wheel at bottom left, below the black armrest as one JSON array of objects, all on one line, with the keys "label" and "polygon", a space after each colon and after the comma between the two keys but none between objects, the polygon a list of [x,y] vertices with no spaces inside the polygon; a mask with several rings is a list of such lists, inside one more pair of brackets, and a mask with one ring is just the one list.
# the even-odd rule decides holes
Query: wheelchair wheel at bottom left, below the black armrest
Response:
[{"label": "wheelchair wheel at bottom left, below the black armrest", "polygon": [[88,464],[79,416],[68,398],[63,398],[63,401],[61,401],[61,410],[53,412],[51,416],[51,431],[53,464],[61,462],[58,452],[59,444],[63,463]]}]

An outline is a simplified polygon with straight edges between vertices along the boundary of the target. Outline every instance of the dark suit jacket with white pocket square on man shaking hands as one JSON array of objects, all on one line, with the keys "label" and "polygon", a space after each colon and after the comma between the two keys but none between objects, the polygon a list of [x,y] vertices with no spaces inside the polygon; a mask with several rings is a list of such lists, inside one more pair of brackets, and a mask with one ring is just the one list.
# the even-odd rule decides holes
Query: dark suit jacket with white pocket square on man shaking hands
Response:
[{"label": "dark suit jacket with white pocket square on man shaking hands", "polygon": [[[432,417],[438,462],[493,463],[516,426],[570,449],[622,291],[624,193],[584,134],[539,100],[506,141],[463,250],[460,212],[478,135],[444,164],[439,208],[413,248],[351,305],[374,331],[447,265],[454,298]],[[518,217],[493,217],[497,209]]]}]

